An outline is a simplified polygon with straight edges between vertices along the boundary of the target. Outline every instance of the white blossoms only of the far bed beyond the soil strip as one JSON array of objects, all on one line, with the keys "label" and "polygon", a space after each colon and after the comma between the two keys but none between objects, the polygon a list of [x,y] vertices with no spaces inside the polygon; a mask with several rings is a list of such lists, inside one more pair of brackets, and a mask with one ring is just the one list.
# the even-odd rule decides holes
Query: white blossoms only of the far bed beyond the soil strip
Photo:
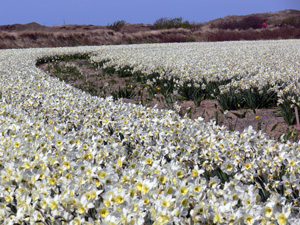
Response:
[{"label": "white blossoms only of the far bed beyond the soil strip", "polygon": [[221,94],[265,86],[278,93],[291,86],[286,92],[299,96],[299,46],[299,40],[119,45],[101,48],[92,60],[109,60],[104,66],[116,69],[130,66],[144,75],[176,77],[179,85],[231,80],[220,87]]}]

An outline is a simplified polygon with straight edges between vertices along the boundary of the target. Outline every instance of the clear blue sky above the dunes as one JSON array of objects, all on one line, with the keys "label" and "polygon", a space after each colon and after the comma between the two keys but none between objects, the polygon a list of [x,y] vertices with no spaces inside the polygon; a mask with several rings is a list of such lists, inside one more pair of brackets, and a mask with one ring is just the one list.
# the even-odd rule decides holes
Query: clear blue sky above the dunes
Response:
[{"label": "clear blue sky above the dunes", "polygon": [[154,23],[161,17],[206,22],[227,15],[300,10],[300,0],[0,0],[0,25]]}]

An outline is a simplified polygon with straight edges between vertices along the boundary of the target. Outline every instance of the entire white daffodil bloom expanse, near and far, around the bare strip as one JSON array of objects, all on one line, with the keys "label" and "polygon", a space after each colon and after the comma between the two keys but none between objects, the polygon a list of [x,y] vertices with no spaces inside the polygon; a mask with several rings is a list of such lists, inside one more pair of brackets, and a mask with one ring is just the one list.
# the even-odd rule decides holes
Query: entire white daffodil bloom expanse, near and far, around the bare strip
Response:
[{"label": "entire white daffodil bloom expanse, near and far, around the bare strip", "polygon": [[91,96],[35,66],[89,54],[179,86],[226,81],[220,95],[268,85],[297,105],[299,42],[1,50],[1,224],[299,224],[298,143]]}]

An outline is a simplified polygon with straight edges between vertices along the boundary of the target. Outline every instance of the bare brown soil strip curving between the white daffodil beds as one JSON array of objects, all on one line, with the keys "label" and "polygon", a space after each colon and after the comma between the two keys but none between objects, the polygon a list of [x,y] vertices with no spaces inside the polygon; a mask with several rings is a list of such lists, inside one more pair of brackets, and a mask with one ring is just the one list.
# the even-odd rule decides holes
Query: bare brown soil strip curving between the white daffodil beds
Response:
[{"label": "bare brown soil strip curving between the white daffodil beds", "polygon": [[[73,72],[73,75],[75,74],[76,76],[64,73],[63,69],[66,69],[70,65],[75,66],[80,71],[80,74],[75,73],[76,71]],[[134,89],[134,96],[132,98],[123,97],[124,102],[134,104],[143,102],[143,105],[148,107],[156,105],[159,109],[166,107],[165,102],[159,100],[159,96],[149,99],[146,92],[144,92],[143,97],[138,96],[137,90],[141,90],[144,87],[139,87],[137,83],[130,83],[132,82],[130,78],[119,77],[116,74],[104,74],[101,69],[95,70],[88,62],[82,60],[60,63],[56,67],[53,66],[53,63],[47,63],[40,65],[39,68],[51,76],[59,77],[70,85],[100,97],[109,96],[112,93],[115,93],[114,97],[116,97],[119,87],[133,85],[136,88]],[[56,70],[59,68],[62,70],[60,73],[57,73],[57,71],[55,72],[55,68]],[[279,140],[283,134],[286,135],[286,140],[298,141],[300,139],[300,135],[298,137],[300,128],[296,125],[288,126],[276,108],[256,109],[255,112],[251,109],[223,112],[216,100],[203,100],[198,107],[196,107],[193,101],[182,99],[178,101],[178,104],[181,106],[180,114],[182,116],[186,114],[192,119],[203,117],[205,121],[215,120],[218,125],[224,125],[232,131],[242,132],[247,127],[252,126],[256,131],[262,130],[267,136],[276,140]]]}]

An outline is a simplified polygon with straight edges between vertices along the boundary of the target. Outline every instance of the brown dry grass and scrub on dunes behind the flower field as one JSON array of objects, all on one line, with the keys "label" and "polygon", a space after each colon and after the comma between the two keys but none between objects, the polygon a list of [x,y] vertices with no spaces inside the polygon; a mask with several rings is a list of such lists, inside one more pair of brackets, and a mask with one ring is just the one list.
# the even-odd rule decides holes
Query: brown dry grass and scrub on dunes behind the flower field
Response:
[{"label": "brown dry grass and scrub on dunes behind the flower field", "polygon": [[[37,23],[0,26],[0,49],[166,43],[190,41],[266,40],[300,38],[300,11],[284,10],[247,16],[227,16],[189,28],[155,29],[152,24],[128,24],[114,31],[111,26]],[[265,21],[268,29],[253,29],[251,23]],[[250,29],[245,29],[247,26]],[[225,29],[226,28],[226,29]],[[234,29],[233,29],[234,28]]]}]

